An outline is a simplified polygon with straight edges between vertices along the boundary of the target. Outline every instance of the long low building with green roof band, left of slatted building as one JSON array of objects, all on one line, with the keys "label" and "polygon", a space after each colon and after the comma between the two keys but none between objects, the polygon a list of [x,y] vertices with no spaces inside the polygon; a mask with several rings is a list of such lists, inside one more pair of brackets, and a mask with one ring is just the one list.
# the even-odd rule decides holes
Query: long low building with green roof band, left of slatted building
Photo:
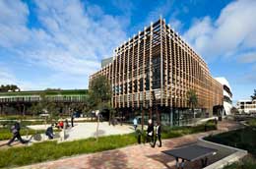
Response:
[{"label": "long low building with green roof band, left of slatted building", "polygon": [[[8,91],[0,92],[0,114],[19,113],[19,107],[28,109],[33,103],[41,101],[44,97],[47,101],[70,105],[72,103],[83,103],[88,96],[87,89],[50,89],[33,91]],[[23,111],[26,111],[23,110]]]}]

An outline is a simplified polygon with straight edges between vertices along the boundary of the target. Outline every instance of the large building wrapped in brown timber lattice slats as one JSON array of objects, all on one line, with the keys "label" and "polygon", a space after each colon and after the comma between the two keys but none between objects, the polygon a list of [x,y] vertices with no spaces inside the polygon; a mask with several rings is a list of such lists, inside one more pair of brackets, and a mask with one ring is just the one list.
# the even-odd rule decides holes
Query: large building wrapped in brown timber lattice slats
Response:
[{"label": "large building wrapped in brown timber lattice slats", "polygon": [[141,113],[145,119],[157,116],[171,125],[179,123],[191,114],[190,89],[198,97],[197,112],[212,116],[214,107],[223,106],[223,85],[162,19],[117,47],[112,62],[91,75],[90,82],[98,76],[108,78],[111,104],[126,118]]}]

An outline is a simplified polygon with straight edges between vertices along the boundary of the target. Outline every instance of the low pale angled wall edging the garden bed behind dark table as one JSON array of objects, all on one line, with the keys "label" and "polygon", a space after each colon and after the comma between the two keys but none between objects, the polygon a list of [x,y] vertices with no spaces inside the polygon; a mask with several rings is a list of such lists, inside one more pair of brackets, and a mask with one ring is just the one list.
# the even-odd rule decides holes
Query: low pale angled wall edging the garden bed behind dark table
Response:
[{"label": "low pale angled wall edging the garden bed behind dark table", "polygon": [[224,166],[231,164],[235,161],[238,161],[248,153],[247,150],[226,146],[224,144],[212,141],[205,141],[203,140],[203,138],[200,138],[197,144],[218,150],[217,154],[211,157],[211,159],[216,162],[205,167],[204,169],[222,169],[224,168]]}]

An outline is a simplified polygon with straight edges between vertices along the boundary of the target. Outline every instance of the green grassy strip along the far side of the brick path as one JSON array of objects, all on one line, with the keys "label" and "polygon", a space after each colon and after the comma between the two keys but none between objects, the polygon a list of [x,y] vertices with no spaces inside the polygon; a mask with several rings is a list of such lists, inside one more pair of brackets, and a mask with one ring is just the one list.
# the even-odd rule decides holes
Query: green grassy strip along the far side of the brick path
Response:
[{"label": "green grassy strip along the far side of the brick path", "polygon": [[[216,129],[213,123],[208,123],[207,127],[209,130]],[[177,138],[204,131],[205,125],[197,127],[176,127],[172,129],[165,127],[162,129],[162,138]],[[98,141],[95,139],[68,141],[62,143],[57,143],[56,141],[45,141],[34,143],[32,146],[1,149],[0,167],[28,165],[36,162],[58,159],[63,156],[115,149],[136,143],[137,138],[135,134],[101,137]]]}]

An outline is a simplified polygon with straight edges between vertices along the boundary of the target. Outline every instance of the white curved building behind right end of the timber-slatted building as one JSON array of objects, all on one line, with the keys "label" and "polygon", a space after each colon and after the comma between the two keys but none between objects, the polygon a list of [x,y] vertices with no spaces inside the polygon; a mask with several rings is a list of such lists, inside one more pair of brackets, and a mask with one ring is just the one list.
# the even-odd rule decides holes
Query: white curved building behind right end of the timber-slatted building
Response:
[{"label": "white curved building behind right end of the timber-slatted building", "polygon": [[232,106],[232,92],[230,84],[224,77],[215,78],[220,84],[224,86],[224,112],[223,116],[231,114]]}]

